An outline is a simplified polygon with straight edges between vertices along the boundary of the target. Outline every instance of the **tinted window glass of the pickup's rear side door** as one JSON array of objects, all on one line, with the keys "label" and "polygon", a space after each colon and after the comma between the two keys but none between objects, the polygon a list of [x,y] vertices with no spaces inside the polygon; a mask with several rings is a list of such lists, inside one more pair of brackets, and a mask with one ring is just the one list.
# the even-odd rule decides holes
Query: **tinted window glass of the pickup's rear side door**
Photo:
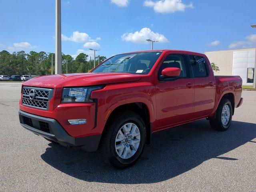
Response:
[{"label": "tinted window glass of the pickup's rear side door", "polygon": [[190,63],[192,65],[194,77],[206,77],[208,76],[208,67],[204,57],[190,55]]}]

